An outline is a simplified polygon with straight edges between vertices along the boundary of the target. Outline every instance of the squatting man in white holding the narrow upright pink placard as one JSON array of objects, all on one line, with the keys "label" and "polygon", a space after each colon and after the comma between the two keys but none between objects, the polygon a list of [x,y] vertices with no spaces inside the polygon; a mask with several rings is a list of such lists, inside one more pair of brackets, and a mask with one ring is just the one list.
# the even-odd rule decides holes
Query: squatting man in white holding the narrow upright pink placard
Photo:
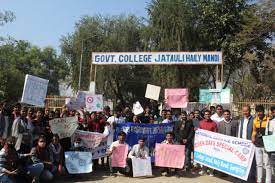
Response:
[{"label": "squatting man in white holding the narrow upright pink placard", "polygon": [[[121,173],[129,173],[130,172],[130,168],[129,166],[126,166],[125,169],[123,168],[117,168],[117,167],[112,167],[112,155],[114,153],[116,153],[116,147],[120,144],[124,144],[124,145],[127,145],[128,144],[125,142],[125,137],[126,137],[126,133],[121,131],[118,133],[118,140],[113,142],[110,146],[110,149],[108,151],[108,156],[109,156],[109,166],[110,166],[110,175],[111,176],[114,176],[114,173],[118,170],[120,171]],[[129,146],[128,146],[128,150],[129,150]]]}]

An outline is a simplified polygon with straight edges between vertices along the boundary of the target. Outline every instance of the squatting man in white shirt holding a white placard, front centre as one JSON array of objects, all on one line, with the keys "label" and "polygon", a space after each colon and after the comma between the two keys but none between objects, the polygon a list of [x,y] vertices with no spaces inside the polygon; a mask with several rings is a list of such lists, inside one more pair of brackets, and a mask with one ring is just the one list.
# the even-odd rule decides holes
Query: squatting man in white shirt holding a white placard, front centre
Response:
[{"label": "squatting man in white shirt holding a white placard, front centre", "polygon": [[130,176],[133,176],[132,158],[147,159],[149,157],[149,149],[145,146],[145,138],[140,137],[138,144],[134,145],[128,154],[127,164],[130,168]]}]

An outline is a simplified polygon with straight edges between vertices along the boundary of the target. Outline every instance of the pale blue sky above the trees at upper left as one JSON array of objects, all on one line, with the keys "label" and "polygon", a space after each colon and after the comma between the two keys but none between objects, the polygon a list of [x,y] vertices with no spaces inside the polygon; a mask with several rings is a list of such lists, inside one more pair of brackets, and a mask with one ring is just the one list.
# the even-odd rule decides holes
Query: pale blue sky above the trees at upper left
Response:
[{"label": "pale blue sky above the trees at upper left", "polygon": [[150,0],[0,0],[0,11],[14,12],[16,19],[0,27],[0,35],[27,40],[39,47],[59,50],[62,35],[74,31],[84,15],[134,14],[147,17]]}]

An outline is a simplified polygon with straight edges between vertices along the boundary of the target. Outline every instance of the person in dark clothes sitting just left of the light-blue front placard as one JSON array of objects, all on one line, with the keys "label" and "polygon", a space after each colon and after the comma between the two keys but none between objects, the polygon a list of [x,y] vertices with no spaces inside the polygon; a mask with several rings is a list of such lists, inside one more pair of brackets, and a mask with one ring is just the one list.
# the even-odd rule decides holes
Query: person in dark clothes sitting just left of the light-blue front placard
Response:
[{"label": "person in dark clothes sitting just left of the light-blue front placard", "polygon": [[49,145],[49,151],[52,157],[54,173],[58,173],[60,175],[63,169],[63,149],[59,143],[59,136],[57,134],[53,135],[52,143]]}]

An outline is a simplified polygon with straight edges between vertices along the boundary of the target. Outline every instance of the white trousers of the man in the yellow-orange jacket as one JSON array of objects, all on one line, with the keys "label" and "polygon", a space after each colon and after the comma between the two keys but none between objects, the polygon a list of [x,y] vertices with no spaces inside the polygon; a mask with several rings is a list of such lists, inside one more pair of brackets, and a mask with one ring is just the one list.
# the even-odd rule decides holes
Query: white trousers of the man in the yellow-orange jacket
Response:
[{"label": "white trousers of the man in the yellow-orange jacket", "polygon": [[265,165],[266,176],[265,182],[271,183],[271,164],[270,158],[263,147],[256,147],[256,164],[257,164],[257,182],[262,182],[263,179],[263,165]]}]

